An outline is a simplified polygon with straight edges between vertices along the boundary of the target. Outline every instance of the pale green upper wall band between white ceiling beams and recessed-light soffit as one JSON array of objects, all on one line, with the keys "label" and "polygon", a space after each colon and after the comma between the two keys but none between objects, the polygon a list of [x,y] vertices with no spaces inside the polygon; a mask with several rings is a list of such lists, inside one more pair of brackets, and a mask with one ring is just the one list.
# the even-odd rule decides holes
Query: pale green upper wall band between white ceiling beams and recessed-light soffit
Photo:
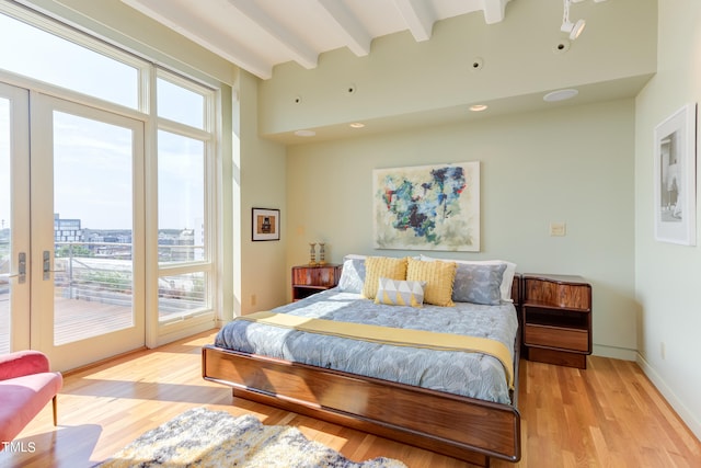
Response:
[{"label": "pale green upper wall band between white ceiling beams and recessed-light soffit", "polygon": [[[501,23],[467,14],[437,22],[427,42],[402,32],[375,38],[367,57],[340,48],[322,54],[311,70],[279,65],[260,87],[261,132],[314,128],[321,138],[336,124],[363,121],[370,130],[378,121],[446,109],[464,114],[468,104],[484,102],[490,113],[514,112],[513,96],[538,105],[548,91],[583,87],[585,100],[591,98],[587,84],[654,73],[655,0],[587,1],[573,11],[587,19],[587,30],[566,54],[553,52],[564,36],[562,1],[515,0]],[[628,24],[635,27],[622,33]],[[480,71],[472,68],[475,58],[483,61]]]}]

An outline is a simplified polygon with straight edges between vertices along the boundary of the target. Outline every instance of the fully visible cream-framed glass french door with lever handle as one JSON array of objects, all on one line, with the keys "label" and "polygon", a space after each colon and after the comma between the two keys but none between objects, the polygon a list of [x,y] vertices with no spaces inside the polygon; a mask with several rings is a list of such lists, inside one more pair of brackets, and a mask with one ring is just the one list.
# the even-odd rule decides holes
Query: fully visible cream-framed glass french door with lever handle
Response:
[{"label": "fully visible cream-framed glass french door with lever handle", "polygon": [[10,263],[26,251],[25,278],[8,276],[10,297],[25,287],[30,299],[11,299],[9,330],[21,339],[14,319],[28,317],[31,347],[70,369],[145,343],[143,124],[36,92],[28,102],[31,153],[11,156],[28,178],[10,205],[28,217],[31,249],[12,246]]}]

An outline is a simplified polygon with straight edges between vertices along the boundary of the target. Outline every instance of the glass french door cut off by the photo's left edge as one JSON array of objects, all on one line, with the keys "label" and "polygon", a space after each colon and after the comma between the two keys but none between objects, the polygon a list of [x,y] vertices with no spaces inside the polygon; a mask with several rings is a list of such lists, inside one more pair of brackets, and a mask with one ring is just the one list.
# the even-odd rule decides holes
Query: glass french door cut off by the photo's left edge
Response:
[{"label": "glass french door cut off by the photo's left edge", "polygon": [[0,354],[30,346],[28,92],[0,83]]}]

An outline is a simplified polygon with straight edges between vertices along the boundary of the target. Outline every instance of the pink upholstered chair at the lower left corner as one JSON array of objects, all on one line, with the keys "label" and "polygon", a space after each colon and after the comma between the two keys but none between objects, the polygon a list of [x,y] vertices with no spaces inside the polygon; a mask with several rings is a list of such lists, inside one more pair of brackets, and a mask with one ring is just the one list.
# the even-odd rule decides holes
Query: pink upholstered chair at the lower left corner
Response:
[{"label": "pink upholstered chair at the lower left corner", "polygon": [[64,385],[60,373],[49,370],[48,358],[38,351],[0,355],[0,450],[53,400]]}]

